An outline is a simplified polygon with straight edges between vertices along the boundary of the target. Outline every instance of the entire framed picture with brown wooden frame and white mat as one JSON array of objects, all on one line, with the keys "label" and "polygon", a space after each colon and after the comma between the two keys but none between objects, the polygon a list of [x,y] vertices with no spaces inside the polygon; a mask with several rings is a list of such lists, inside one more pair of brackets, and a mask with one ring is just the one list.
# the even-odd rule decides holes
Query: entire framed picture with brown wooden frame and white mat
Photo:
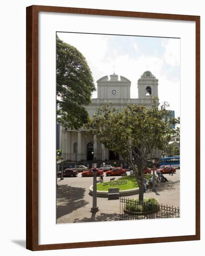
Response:
[{"label": "entire framed picture with brown wooden frame and white mat", "polygon": [[27,7],[26,248],[192,240],[200,16]]}]

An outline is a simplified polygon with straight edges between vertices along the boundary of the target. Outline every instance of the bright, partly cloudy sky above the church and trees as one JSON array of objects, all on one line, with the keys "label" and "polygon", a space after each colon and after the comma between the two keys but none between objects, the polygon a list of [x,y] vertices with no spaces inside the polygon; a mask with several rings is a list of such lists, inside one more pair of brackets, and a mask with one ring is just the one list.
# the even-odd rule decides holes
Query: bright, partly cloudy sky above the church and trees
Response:
[{"label": "bright, partly cloudy sky above the church and trees", "polygon": [[[57,33],[86,58],[93,79],[122,75],[131,81],[130,98],[138,97],[137,81],[149,70],[159,80],[160,104],[167,101],[180,116],[180,39],[127,35]],[[113,67],[115,66],[115,67]],[[94,92],[92,98],[97,97]]]}]

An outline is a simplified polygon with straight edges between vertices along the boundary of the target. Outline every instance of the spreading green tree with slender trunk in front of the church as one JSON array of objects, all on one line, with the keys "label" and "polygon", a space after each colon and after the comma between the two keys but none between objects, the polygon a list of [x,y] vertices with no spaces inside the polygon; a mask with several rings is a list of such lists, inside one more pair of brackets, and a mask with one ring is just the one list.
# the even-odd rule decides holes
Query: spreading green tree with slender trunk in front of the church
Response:
[{"label": "spreading green tree with slender trunk in front of the church", "polygon": [[105,104],[90,120],[89,132],[96,135],[97,140],[106,148],[122,155],[134,170],[140,188],[140,201],[143,201],[143,168],[148,154],[152,156],[154,148],[165,150],[167,143],[175,135],[175,130],[170,125],[177,124],[178,120],[170,118],[167,107],[165,102],[158,108],[154,98],[152,108],[136,104],[119,110]]}]

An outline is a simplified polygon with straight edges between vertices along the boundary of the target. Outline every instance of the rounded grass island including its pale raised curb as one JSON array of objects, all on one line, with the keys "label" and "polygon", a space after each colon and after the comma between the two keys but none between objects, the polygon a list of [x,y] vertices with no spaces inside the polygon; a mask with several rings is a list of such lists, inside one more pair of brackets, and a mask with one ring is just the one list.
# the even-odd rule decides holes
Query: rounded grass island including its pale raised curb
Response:
[{"label": "rounded grass island including its pale raised curb", "polygon": [[[147,181],[151,175],[144,175]],[[90,186],[90,195],[93,193],[93,186]],[[134,175],[120,177],[114,181],[97,183],[97,197],[108,197],[108,189],[119,188],[120,196],[135,195],[139,193],[139,187]]]}]

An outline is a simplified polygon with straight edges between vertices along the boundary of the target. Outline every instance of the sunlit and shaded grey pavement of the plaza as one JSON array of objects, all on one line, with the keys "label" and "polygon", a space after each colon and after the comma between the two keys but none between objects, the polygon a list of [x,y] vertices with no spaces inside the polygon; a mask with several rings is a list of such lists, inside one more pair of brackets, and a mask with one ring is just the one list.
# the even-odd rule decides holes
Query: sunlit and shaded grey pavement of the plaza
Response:
[{"label": "sunlit and shaded grey pavement of the plaza", "polygon": [[[129,175],[129,172],[127,172]],[[158,183],[156,192],[148,189],[144,197],[154,197],[162,204],[178,207],[179,202],[179,176],[180,170],[172,176],[164,175],[169,182]],[[119,176],[115,176],[118,179]],[[110,177],[104,175],[104,181]],[[64,178],[57,182],[57,223],[70,222],[94,222],[119,220],[119,200],[108,200],[108,198],[97,197],[99,211],[95,214],[90,212],[92,207],[92,196],[89,195],[89,188],[92,185],[93,177]],[[126,197],[125,197],[126,198]],[[138,195],[129,195],[127,198],[138,198]]]}]

